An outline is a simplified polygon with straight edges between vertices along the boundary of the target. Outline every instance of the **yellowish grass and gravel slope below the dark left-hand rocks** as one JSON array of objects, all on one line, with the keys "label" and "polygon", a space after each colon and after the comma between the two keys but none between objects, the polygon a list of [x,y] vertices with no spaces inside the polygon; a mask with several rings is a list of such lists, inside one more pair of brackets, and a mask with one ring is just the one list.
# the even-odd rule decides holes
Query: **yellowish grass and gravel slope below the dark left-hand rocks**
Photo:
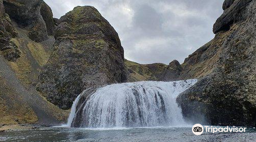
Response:
[{"label": "yellowish grass and gravel slope below the dark left-hand rocks", "polygon": [[[25,30],[17,28],[17,31],[19,36],[12,41],[22,51],[22,56],[16,62],[1,59],[5,70],[0,72],[3,84],[0,87],[0,124],[47,123],[45,115],[50,121],[66,121],[69,112],[48,102],[34,88],[39,70],[50,56],[53,37],[36,43],[27,37]],[[13,79],[8,76],[12,73]]]}]

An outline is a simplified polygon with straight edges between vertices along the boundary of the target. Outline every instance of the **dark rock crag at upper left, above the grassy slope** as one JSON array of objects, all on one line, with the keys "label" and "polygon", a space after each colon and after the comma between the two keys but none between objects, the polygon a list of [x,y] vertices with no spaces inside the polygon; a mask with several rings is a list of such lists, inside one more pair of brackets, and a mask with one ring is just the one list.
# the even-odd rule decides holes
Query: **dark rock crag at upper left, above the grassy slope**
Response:
[{"label": "dark rock crag at upper left, above the grassy slope", "polygon": [[[52,35],[54,22],[49,6],[41,0],[4,0],[5,11],[19,27],[28,29],[28,37],[36,42]],[[47,33],[48,32],[48,33]]]}]

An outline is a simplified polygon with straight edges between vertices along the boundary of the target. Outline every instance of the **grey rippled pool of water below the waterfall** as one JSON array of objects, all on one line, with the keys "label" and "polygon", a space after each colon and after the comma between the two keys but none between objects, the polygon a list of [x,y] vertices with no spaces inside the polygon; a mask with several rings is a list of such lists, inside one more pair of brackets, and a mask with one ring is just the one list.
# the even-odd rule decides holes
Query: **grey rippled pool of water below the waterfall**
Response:
[{"label": "grey rippled pool of water below the waterfall", "polygon": [[40,130],[0,133],[0,141],[255,141],[255,129],[245,133],[206,133],[195,135],[191,127],[77,129],[41,128]]}]

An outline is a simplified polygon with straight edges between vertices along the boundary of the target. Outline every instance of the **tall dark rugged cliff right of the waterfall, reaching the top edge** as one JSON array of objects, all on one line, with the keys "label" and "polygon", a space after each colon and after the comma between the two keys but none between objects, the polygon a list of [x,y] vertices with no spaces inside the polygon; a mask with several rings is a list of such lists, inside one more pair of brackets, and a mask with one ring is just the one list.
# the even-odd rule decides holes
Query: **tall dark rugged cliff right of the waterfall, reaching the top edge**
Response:
[{"label": "tall dark rugged cliff right of the waterfall, reaching the top edge", "polygon": [[223,9],[215,38],[183,65],[181,79],[201,79],[177,101],[188,120],[256,126],[256,2],[226,0]]}]

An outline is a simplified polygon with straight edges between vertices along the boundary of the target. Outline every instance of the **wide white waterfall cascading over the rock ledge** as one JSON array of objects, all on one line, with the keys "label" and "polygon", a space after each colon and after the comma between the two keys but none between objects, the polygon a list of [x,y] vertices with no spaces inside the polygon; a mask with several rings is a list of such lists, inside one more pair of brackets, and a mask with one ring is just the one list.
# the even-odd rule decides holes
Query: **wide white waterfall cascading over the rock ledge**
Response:
[{"label": "wide white waterfall cascading over the rock ledge", "polygon": [[111,84],[88,96],[86,103],[79,106],[79,116],[76,108],[83,92],[74,101],[68,126],[72,127],[76,117],[79,127],[87,128],[183,126],[176,98],[196,82],[197,79],[189,79]]}]

